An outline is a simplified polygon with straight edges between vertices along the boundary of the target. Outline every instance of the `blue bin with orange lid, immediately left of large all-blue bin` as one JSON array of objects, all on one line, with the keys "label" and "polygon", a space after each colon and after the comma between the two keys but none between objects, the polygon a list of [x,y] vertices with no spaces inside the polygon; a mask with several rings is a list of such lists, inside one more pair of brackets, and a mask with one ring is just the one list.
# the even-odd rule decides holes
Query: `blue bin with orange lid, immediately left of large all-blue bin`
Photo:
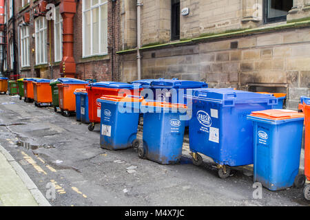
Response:
[{"label": "blue bin with orange lid, immediately left of large all-blue bin", "polygon": [[[143,109],[147,110],[144,111]],[[176,164],[182,156],[187,106],[168,102],[143,102],[143,146],[138,157],[159,164]]]}]

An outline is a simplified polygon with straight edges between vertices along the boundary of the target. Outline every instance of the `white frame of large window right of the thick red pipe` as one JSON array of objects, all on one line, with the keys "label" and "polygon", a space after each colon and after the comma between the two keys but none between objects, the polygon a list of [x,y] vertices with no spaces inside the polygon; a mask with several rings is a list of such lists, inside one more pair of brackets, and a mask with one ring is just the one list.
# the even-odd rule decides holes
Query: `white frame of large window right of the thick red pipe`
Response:
[{"label": "white frame of large window right of the thick red pipe", "polygon": [[[90,8],[85,10],[85,1],[90,1]],[[101,2],[103,1],[103,2]],[[87,58],[87,57],[91,57],[91,56],[101,56],[101,55],[107,55],[108,54],[108,51],[107,51],[107,48],[105,49],[105,52],[101,52],[102,51],[102,48],[101,48],[101,6],[102,5],[105,5],[107,4],[108,1],[107,0],[98,0],[98,3],[96,3],[95,5],[92,5],[92,0],[83,0],[82,1],[82,30],[83,30],[83,37],[82,37],[82,48],[83,48],[83,52],[82,52],[82,56],[83,58]],[[108,5],[107,5],[108,6]],[[99,53],[94,53],[93,52],[93,42],[92,42],[92,39],[93,39],[93,22],[92,22],[92,12],[90,12],[90,54],[88,55],[85,55],[85,14],[86,12],[89,12],[89,11],[92,11],[94,8],[99,8],[99,18],[98,18],[98,21],[99,21]],[[107,11],[108,13],[108,11]],[[107,21],[108,23],[108,21]],[[107,30],[108,31],[108,28]],[[107,39],[108,39],[108,36],[107,36]],[[107,39],[106,42],[107,42]],[[108,44],[108,43],[107,43]]]}]

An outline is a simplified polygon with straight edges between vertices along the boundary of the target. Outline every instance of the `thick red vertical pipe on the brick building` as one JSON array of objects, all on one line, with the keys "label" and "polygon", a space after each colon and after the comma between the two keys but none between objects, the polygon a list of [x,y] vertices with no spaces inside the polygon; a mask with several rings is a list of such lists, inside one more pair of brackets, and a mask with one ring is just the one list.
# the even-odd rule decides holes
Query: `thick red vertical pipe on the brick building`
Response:
[{"label": "thick red vertical pipe on the brick building", "polygon": [[76,13],[75,0],[61,0],[60,12],[61,17],[63,17],[63,60],[60,64],[60,72],[62,77],[74,78],[76,74],[76,63],[73,57],[73,17]]}]

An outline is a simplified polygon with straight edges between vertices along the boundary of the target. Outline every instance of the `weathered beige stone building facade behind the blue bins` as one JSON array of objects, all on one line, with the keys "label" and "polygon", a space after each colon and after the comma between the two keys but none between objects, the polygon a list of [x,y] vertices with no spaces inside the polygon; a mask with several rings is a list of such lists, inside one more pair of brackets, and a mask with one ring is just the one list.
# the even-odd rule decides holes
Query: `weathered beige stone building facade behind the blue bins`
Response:
[{"label": "weathered beige stone building facade behind the blue bins", "polygon": [[[121,79],[136,80],[136,1],[125,1]],[[141,78],[310,95],[309,0],[143,0]]]}]

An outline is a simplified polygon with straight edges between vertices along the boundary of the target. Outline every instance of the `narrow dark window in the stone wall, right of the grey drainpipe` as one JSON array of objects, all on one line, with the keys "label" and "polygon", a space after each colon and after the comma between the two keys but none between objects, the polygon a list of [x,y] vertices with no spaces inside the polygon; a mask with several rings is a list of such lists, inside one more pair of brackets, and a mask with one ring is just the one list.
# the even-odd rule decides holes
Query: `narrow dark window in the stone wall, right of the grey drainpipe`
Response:
[{"label": "narrow dark window in the stone wall, right of the grey drainpipe", "polygon": [[172,0],[171,7],[171,40],[180,39],[180,0]]}]

